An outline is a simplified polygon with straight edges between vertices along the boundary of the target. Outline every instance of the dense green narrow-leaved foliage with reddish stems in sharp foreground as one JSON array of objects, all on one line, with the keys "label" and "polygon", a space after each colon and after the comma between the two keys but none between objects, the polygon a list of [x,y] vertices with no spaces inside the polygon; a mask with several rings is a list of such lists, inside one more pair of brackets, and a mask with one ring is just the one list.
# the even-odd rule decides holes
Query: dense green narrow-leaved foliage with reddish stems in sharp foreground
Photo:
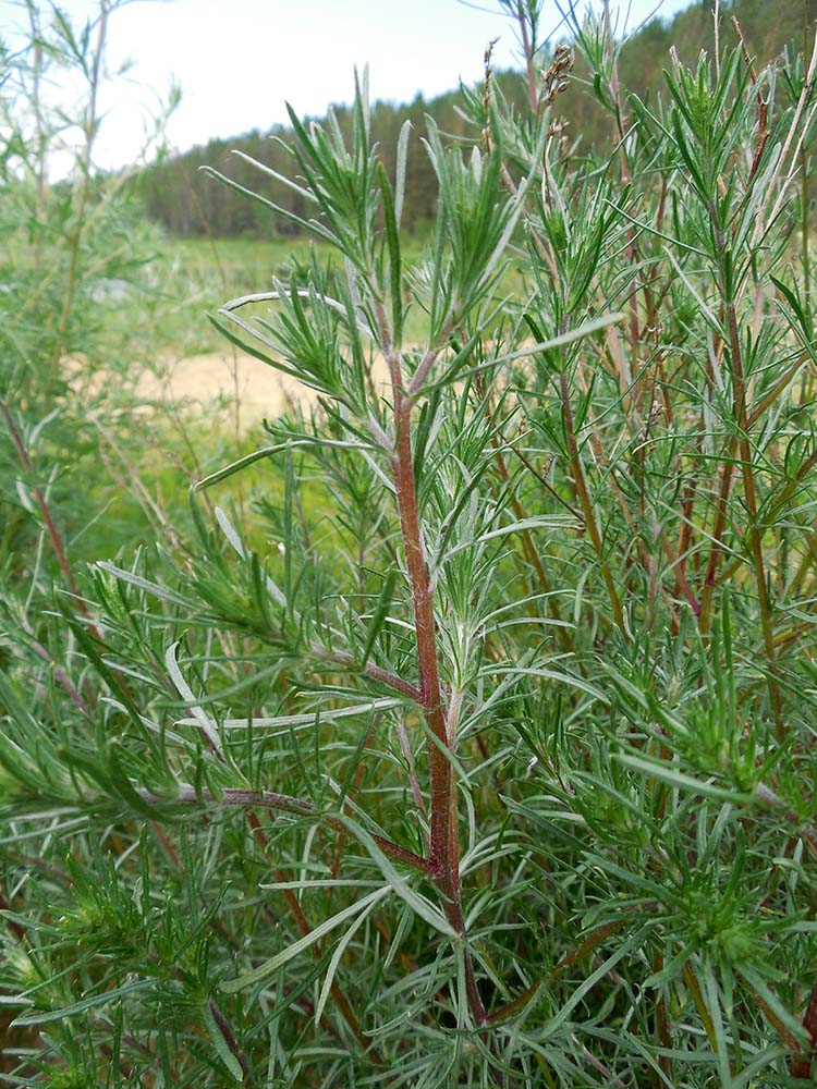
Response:
[{"label": "dense green narrow-leaved foliage with reddish stems in sharp foreground", "polygon": [[334,259],[216,321],[319,409],[0,674],[13,1084],[813,1078],[817,53],[642,102],[576,25],[576,160],[539,10],[528,106],[427,123],[419,261],[365,77],[351,132],[293,114],[304,211],[256,203]]}]

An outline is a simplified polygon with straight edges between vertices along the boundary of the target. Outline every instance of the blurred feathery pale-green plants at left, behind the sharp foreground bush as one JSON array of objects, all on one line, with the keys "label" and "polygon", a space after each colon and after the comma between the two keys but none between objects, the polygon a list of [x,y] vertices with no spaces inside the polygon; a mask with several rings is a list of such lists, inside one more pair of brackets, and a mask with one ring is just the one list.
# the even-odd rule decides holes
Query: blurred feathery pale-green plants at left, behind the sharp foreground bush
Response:
[{"label": "blurred feathery pale-green plants at left, behind the sharp foreground bush", "polygon": [[[0,570],[12,597],[31,577],[23,612],[60,565],[153,537],[162,493],[196,467],[190,436],[147,409],[139,380],[190,351],[204,279],[180,296],[178,257],[129,186],[136,167],[95,167],[100,130],[115,123],[97,103],[122,75],[106,60],[118,8],[106,0],[74,24],[56,5],[21,4],[0,54]],[[146,119],[145,155],[167,110]],[[54,534],[60,546],[44,547]]]}]

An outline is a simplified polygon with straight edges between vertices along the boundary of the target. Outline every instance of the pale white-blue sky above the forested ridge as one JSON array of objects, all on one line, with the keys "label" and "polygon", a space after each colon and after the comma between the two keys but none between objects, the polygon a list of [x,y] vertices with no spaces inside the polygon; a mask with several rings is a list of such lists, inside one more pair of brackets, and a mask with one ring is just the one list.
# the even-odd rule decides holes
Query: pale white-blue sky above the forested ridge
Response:
[{"label": "pale white-blue sky above the forested ridge", "polygon": [[[581,0],[582,10],[590,0]],[[598,8],[599,0],[592,0]],[[671,16],[690,0],[621,0],[621,33],[651,13]],[[46,7],[45,3],[41,7]],[[93,19],[98,0],[60,0],[76,23]],[[617,0],[612,0],[615,9]],[[548,29],[556,2],[546,0]],[[0,37],[14,41],[20,0],[0,0]],[[172,84],[181,101],[166,126],[172,149],[211,137],[261,132],[286,121],[284,102],[319,115],[347,102],[355,65],[369,65],[373,100],[411,101],[481,78],[483,53],[499,37],[495,66],[514,62],[514,29],[496,0],[135,0],[109,24],[108,66],[131,66],[101,95],[105,122],[95,161],[118,168],[136,160]],[[76,91],[52,91],[69,105]]]}]

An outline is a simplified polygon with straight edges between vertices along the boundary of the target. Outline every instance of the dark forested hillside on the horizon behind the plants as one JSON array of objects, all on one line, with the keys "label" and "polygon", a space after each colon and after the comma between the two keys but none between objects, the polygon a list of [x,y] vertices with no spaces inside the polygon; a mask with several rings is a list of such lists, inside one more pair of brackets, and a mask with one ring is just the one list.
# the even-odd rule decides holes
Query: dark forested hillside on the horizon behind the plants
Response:
[{"label": "dark forested hillside on the horizon behind the plants", "polygon": [[[679,12],[671,21],[653,19],[621,46],[619,76],[625,96],[627,91],[646,98],[661,94],[663,70],[670,63],[670,49],[686,63],[694,62],[700,49],[712,49],[715,29],[712,0],[696,0]],[[807,54],[813,37],[817,0],[789,0],[769,3],[768,0],[724,0],[720,7],[720,39],[723,44],[739,41],[739,28],[746,49],[758,64],[804,50]],[[735,21],[737,26],[735,25]],[[551,44],[552,45],[552,44]],[[542,69],[551,57],[542,58]],[[524,88],[511,73],[498,73],[495,90],[502,94],[510,106],[521,108]],[[617,134],[611,130],[609,114],[598,102],[593,82],[581,62],[570,81],[566,93],[560,95],[558,110],[564,124],[566,154],[573,156],[608,156]],[[336,107],[334,113],[341,131],[351,132],[351,109]],[[425,117],[434,118],[440,132],[455,142],[472,134],[479,137],[478,129],[462,111],[460,90],[451,90],[436,98],[425,99],[417,94],[410,103],[397,105],[380,101],[373,106],[371,131],[382,148],[385,166],[393,176],[398,136],[403,124],[410,121],[412,135],[408,147],[406,200],[403,225],[412,234],[422,234],[436,210],[437,181],[431,161],[420,144],[425,131]],[[162,224],[172,235],[195,237],[268,237],[270,233],[298,233],[297,224],[282,217],[271,217],[269,210],[257,201],[247,200],[241,193],[219,183],[199,168],[207,166],[227,174],[236,184],[259,193],[263,197],[303,216],[302,196],[271,175],[258,172],[246,160],[232,151],[241,151],[284,176],[293,172],[288,146],[292,131],[285,125],[275,125],[267,132],[254,130],[227,139],[211,139],[181,155],[168,156],[146,169],[138,179],[147,215]]]}]

